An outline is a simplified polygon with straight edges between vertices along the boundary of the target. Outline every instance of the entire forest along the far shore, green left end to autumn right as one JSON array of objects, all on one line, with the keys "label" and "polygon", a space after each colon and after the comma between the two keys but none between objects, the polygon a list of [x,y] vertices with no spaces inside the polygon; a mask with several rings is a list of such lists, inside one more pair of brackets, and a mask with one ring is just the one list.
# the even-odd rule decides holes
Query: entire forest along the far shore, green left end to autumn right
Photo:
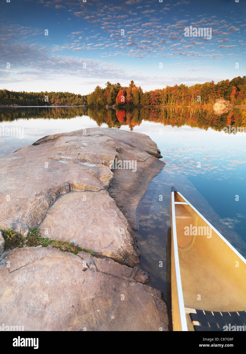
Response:
[{"label": "entire forest along the far shore, green left end to autumn right", "polygon": [[96,86],[88,95],[75,95],[70,92],[15,92],[6,89],[0,90],[0,105],[19,106],[54,106],[54,105],[106,105],[122,106],[195,106],[211,105],[217,98],[230,101],[231,105],[246,105],[246,76],[238,76],[232,80],[214,81],[204,84],[186,86],[184,84],[166,86],[144,92],[132,80],[128,87],[111,84],[107,81],[105,88]]}]

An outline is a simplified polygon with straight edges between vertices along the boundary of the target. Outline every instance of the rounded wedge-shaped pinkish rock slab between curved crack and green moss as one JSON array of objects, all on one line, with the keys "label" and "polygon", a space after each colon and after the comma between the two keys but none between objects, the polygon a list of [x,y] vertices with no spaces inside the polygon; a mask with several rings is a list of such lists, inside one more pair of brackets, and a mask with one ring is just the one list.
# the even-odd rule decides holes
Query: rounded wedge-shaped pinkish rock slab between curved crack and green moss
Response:
[{"label": "rounded wedge-shaped pinkish rock slab between curved crack and green moss", "polygon": [[97,256],[130,266],[139,263],[135,234],[106,190],[59,196],[39,230],[43,237],[73,242]]}]

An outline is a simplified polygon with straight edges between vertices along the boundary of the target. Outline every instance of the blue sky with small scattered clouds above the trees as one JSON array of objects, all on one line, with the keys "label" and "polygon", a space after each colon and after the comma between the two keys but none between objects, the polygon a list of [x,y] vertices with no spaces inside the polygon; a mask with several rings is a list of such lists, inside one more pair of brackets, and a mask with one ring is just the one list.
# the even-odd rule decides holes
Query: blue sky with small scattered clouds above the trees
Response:
[{"label": "blue sky with small scattered clouds above the trees", "polygon": [[86,95],[107,81],[149,91],[246,74],[246,0],[161,1],[1,0],[0,89]]}]

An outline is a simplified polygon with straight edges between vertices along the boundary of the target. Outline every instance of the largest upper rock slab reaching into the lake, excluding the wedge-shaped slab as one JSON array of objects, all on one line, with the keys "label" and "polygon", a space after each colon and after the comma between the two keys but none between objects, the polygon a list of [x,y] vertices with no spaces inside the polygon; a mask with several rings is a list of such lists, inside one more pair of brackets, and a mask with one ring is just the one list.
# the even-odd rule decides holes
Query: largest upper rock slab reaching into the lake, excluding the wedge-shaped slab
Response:
[{"label": "largest upper rock slab reaching into the lake, excluding the wedge-shaped slab", "polygon": [[[136,160],[136,172],[111,171],[117,156]],[[90,128],[39,139],[0,158],[0,228],[27,235],[57,196],[107,190],[114,176],[110,195],[136,229],[136,206],[162,169],[161,157],[150,137],[118,129]]]}]

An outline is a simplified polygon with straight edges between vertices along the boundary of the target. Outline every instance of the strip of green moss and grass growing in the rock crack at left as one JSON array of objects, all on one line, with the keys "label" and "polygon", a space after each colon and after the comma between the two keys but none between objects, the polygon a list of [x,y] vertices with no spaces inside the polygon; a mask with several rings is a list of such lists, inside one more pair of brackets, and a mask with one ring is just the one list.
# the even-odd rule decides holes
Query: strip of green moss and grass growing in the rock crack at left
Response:
[{"label": "strip of green moss and grass growing in the rock crack at left", "polygon": [[5,239],[5,250],[12,250],[13,248],[23,246],[36,247],[41,245],[42,247],[52,246],[60,251],[70,252],[74,255],[77,255],[80,251],[88,252],[92,256],[94,255],[93,251],[78,247],[72,242],[45,239],[40,235],[38,228],[31,229],[26,238],[22,234],[13,231],[12,228],[1,231]]}]

